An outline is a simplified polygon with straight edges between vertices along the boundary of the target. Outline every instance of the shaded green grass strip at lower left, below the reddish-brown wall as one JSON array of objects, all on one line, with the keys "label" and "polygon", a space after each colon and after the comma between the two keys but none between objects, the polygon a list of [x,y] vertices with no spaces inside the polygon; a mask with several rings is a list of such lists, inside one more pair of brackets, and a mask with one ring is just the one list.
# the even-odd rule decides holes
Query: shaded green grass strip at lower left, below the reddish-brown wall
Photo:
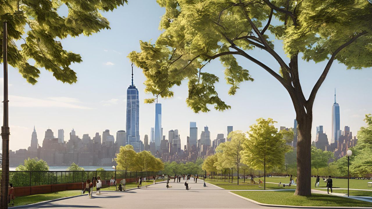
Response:
[{"label": "shaded green grass strip at lower left, below the reddish-brown wall", "polygon": [[[29,205],[32,203],[47,201],[47,200],[54,200],[62,197],[70,197],[81,194],[81,190],[69,190],[69,191],[61,191],[61,192],[53,192],[53,193],[45,193],[45,194],[33,194],[29,196],[21,196],[17,197],[14,200],[15,204],[17,205]],[[9,206],[12,206],[11,204]]]}]

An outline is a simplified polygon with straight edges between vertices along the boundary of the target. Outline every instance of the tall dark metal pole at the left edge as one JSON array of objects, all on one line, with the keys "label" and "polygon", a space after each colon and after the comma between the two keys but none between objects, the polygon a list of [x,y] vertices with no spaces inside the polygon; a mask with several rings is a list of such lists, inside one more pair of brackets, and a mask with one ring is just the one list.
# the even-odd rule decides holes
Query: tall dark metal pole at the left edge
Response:
[{"label": "tall dark metal pole at the left edge", "polygon": [[3,65],[4,65],[4,115],[1,126],[1,138],[3,139],[3,159],[1,172],[1,209],[8,208],[8,185],[9,185],[9,115],[8,115],[8,29],[7,22],[3,25]]}]

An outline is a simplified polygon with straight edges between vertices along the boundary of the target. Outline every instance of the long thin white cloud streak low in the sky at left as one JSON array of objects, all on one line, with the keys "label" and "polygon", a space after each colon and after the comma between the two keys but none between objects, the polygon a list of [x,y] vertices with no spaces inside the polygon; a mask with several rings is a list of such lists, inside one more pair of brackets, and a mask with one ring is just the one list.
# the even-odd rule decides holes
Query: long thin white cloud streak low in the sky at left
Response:
[{"label": "long thin white cloud streak low in the sky at left", "polygon": [[12,104],[13,107],[64,107],[72,109],[94,109],[91,107],[73,104],[81,102],[77,99],[69,97],[50,97],[47,99],[37,99],[32,97],[9,95],[9,103]]}]

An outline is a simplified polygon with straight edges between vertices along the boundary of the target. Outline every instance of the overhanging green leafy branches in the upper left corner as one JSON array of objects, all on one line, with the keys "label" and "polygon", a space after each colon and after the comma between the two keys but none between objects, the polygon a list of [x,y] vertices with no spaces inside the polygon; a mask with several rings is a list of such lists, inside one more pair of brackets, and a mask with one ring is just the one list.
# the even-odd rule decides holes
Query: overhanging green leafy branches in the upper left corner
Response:
[{"label": "overhanging green leafy branches in the upper left corner", "polygon": [[[31,84],[37,82],[40,68],[51,71],[63,83],[76,83],[76,73],[70,65],[81,62],[81,56],[63,49],[59,40],[110,29],[108,20],[100,12],[112,11],[124,3],[127,0],[1,1],[0,22],[8,24],[8,63]],[[67,16],[61,16],[63,7],[68,9]],[[22,44],[17,46],[16,41]],[[34,66],[29,64],[31,60],[35,61]]]}]

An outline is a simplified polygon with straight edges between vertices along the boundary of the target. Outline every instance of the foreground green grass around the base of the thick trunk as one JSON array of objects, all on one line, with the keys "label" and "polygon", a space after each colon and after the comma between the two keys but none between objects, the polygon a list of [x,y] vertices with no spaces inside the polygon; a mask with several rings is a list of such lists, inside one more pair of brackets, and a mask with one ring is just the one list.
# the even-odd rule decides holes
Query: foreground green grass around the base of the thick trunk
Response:
[{"label": "foreground green grass around the base of the thick trunk", "polygon": [[305,197],[294,196],[294,191],[233,191],[233,193],[260,203],[273,205],[371,207],[370,202],[326,194],[312,194],[310,197]]}]

